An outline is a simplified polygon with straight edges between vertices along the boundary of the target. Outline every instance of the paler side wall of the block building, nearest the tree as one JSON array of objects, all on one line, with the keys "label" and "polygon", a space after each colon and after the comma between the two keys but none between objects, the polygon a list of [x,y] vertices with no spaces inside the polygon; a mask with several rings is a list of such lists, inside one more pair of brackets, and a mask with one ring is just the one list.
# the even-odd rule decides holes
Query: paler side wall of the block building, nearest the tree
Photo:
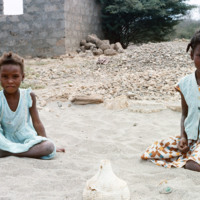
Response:
[{"label": "paler side wall of the block building, nearest the tree", "polygon": [[66,50],[74,51],[88,34],[103,37],[100,4],[96,0],[65,1]]}]

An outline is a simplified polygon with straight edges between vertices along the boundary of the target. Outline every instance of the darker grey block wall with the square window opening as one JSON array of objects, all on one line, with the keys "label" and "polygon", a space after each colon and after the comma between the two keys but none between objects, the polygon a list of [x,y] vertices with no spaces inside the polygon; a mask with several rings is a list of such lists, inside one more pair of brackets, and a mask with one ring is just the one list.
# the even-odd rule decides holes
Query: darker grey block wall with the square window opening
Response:
[{"label": "darker grey block wall with the square window opening", "polygon": [[24,0],[23,15],[3,15],[1,12],[0,53],[14,51],[33,57],[63,54],[63,5],[64,0]]}]

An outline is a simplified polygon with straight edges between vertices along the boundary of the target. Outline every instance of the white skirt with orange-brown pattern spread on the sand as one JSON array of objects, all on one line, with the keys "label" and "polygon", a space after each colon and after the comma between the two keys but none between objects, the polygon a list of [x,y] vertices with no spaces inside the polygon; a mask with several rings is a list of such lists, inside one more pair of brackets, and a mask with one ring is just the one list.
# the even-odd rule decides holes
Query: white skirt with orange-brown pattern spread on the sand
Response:
[{"label": "white skirt with orange-brown pattern spread on the sand", "polygon": [[188,160],[200,164],[200,141],[189,140],[189,151],[181,153],[178,150],[180,137],[169,137],[166,140],[156,141],[142,154],[143,160],[150,160],[158,166],[167,168],[183,167]]}]

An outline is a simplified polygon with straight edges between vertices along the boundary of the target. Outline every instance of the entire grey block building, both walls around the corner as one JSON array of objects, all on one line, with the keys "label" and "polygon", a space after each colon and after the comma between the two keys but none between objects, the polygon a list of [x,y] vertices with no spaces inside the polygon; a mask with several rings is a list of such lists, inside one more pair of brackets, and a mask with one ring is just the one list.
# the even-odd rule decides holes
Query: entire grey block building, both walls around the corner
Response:
[{"label": "entire grey block building, both walls around the corner", "polygon": [[100,32],[95,1],[24,0],[23,15],[5,16],[0,0],[0,54],[50,57],[75,50],[87,34]]}]

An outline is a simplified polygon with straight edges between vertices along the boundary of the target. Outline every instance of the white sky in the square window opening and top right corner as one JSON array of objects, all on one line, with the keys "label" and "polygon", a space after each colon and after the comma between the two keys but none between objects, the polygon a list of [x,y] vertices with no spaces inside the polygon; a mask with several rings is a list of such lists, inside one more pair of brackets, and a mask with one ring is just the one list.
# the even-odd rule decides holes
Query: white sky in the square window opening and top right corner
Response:
[{"label": "white sky in the square window opening and top right corner", "polygon": [[[6,15],[21,15],[23,14],[23,0],[3,0],[4,14]],[[200,6],[200,0],[188,0],[187,3]],[[200,10],[193,9],[191,11],[191,18],[195,20],[200,19]]]}]

